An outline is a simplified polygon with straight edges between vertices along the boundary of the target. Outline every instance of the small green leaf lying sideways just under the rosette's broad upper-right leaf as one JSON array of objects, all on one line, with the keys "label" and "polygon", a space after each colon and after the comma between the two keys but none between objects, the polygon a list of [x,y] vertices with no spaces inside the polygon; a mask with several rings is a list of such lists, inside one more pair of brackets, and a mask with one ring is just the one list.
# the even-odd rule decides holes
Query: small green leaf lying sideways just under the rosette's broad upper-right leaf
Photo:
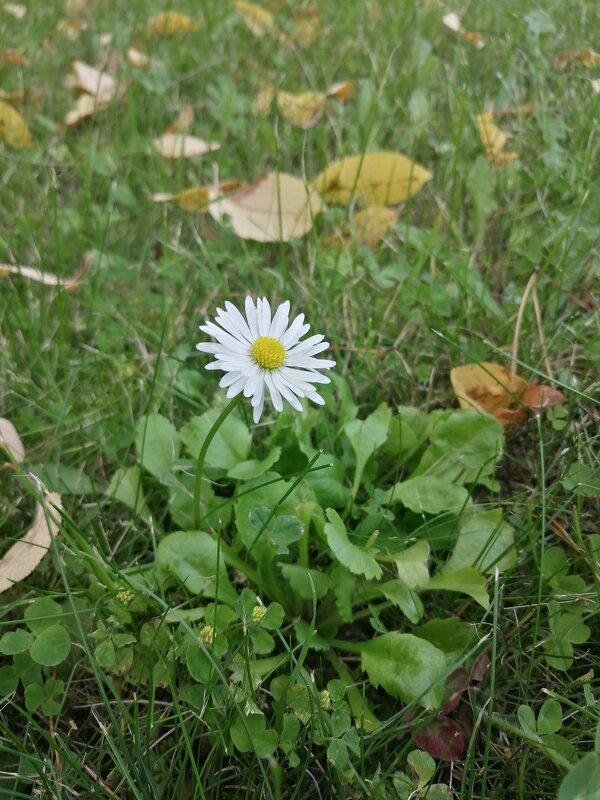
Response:
[{"label": "small green leaf lying sideways just under the rosette's broad upper-right leaf", "polygon": [[402,503],[415,514],[458,513],[469,502],[469,493],[464,486],[435,475],[417,475],[392,486],[380,502],[383,505]]}]

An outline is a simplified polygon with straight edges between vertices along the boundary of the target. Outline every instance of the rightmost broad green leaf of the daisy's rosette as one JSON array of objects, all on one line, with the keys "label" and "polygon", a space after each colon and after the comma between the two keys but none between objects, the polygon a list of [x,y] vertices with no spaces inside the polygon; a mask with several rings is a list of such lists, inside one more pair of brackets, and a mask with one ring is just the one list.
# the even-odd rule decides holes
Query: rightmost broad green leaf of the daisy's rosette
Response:
[{"label": "rightmost broad green leaf of the daisy's rosette", "polygon": [[504,522],[500,509],[474,510],[459,525],[458,539],[444,567],[444,575],[464,567],[476,567],[485,575],[496,568],[504,571],[514,566],[514,531]]}]

